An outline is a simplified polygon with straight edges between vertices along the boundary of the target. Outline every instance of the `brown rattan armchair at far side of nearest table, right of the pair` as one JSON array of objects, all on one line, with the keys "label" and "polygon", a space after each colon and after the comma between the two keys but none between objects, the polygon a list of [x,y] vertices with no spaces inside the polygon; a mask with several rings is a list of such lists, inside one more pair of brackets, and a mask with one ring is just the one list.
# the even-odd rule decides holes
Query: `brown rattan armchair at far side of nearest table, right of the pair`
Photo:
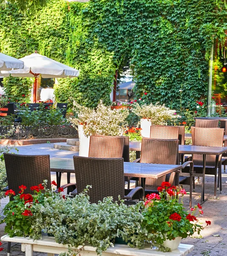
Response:
[{"label": "brown rattan armchair at far side of nearest table, right of the pair", "polygon": [[[163,140],[163,139],[149,139],[142,138],[141,145],[141,157],[140,163],[156,163],[156,164],[173,164],[178,162],[178,145],[179,140]],[[138,162],[138,160],[137,160]],[[192,172],[193,163],[191,161],[185,162],[183,168],[190,164],[191,175],[180,175],[180,183],[190,185],[190,205],[192,201]],[[163,181],[168,181],[173,184],[175,178],[175,172],[171,175],[163,176],[159,179],[146,179],[145,183],[145,195],[152,192],[157,192],[157,187],[161,185]]]}]

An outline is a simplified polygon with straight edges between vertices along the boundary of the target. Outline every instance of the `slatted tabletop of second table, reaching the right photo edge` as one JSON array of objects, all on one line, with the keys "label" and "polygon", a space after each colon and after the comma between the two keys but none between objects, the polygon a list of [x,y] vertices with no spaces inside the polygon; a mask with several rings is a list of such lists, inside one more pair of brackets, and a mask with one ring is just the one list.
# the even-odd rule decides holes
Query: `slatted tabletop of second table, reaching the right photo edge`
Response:
[{"label": "slatted tabletop of second table, reaching the right photo edge", "polygon": [[[131,151],[141,151],[140,142],[129,143]],[[182,154],[212,154],[220,155],[227,152],[227,147],[205,147],[193,145],[179,145],[179,153]]]}]

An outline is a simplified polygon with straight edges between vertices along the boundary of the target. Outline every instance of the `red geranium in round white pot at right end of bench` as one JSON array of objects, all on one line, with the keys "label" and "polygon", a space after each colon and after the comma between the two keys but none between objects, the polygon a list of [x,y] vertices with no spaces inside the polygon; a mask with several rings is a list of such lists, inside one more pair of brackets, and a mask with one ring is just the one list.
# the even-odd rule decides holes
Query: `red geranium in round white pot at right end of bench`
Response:
[{"label": "red geranium in round white pot at right end of bench", "polygon": [[[162,245],[167,250],[175,250],[179,247],[182,238],[200,233],[201,226],[196,218],[203,214],[202,207],[198,204],[186,211],[183,206],[183,197],[186,194],[181,187],[171,186],[168,182],[162,182],[158,187],[159,195],[156,193],[147,195],[145,203],[142,205],[142,214],[144,221],[142,226],[149,233],[156,233],[159,236],[156,239],[157,246]],[[179,203],[179,197],[182,196]],[[167,198],[167,200],[166,200]],[[197,215],[196,212],[198,213]],[[210,225],[210,221],[206,221]]]}]

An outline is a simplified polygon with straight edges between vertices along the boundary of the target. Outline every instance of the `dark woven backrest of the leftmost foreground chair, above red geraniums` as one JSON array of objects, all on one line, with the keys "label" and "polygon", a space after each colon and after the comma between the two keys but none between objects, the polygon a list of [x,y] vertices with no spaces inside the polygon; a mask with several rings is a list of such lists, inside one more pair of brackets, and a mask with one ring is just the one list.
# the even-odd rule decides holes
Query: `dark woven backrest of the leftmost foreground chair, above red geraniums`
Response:
[{"label": "dark woven backrest of the leftmost foreground chair, above red geraniums", "polygon": [[48,180],[47,187],[51,187],[51,171],[49,155],[20,155],[4,153],[6,175],[9,189],[19,192],[19,186],[27,187],[26,193],[32,193],[30,187]]}]

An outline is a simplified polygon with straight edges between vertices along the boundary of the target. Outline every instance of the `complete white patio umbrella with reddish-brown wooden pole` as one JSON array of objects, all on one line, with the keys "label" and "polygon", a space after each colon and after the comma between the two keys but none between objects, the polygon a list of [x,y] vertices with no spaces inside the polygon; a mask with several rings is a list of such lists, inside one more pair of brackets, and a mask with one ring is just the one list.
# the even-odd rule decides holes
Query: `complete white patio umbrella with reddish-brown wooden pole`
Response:
[{"label": "complete white patio umbrella with reddish-brown wooden pole", "polygon": [[71,78],[79,76],[79,70],[68,67],[65,64],[54,61],[36,52],[20,58],[20,60],[24,62],[23,69],[0,72],[2,76],[9,76],[9,74],[11,74],[11,76],[14,77],[34,77],[34,102],[36,102],[37,96],[37,77],[40,77],[40,75],[43,78]]}]

